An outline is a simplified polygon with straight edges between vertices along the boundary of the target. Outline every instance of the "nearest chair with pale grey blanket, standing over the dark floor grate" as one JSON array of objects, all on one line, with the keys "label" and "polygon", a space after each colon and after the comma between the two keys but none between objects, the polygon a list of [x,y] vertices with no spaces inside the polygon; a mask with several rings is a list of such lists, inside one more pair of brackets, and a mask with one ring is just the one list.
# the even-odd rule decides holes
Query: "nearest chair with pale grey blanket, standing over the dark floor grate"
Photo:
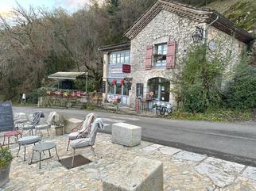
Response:
[{"label": "nearest chair with pale grey blanket, standing over the dark floor grate", "polygon": [[97,155],[95,153],[95,149],[93,146],[95,144],[98,128],[100,128],[100,129],[104,128],[103,120],[101,120],[100,118],[96,118],[93,121],[93,123],[91,124],[90,132],[87,137],[82,138],[82,139],[74,139],[70,142],[70,147],[72,147],[72,149],[73,149],[72,167],[74,166],[74,159],[75,159],[75,154],[76,154],[77,148],[90,147],[91,151],[93,152],[93,154],[95,155],[96,160],[97,160]]}]

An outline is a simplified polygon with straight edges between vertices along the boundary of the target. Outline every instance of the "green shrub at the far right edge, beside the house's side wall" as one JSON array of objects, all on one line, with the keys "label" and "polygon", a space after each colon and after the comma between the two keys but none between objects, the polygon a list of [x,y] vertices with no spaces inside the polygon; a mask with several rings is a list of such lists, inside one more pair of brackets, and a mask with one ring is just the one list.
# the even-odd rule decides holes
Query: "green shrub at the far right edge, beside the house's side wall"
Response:
[{"label": "green shrub at the far right edge, beside the house's side wall", "polygon": [[256,109],[256,67],[244,55],[235,67],[235,78],[227,94],[227,105],[234,109]]}]

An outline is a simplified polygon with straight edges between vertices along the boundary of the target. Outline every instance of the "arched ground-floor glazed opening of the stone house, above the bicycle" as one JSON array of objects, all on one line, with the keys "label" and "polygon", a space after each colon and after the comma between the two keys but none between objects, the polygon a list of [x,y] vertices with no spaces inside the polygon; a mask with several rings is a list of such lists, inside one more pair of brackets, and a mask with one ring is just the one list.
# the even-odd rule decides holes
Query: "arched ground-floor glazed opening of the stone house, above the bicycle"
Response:
[{"label": "arched ground-floor glazed opening of the stone house, above the bicycle", "polygon": [[153,99],[169,102],[170,82],[165,78],[149,79],[149,91],[153,92]]}]

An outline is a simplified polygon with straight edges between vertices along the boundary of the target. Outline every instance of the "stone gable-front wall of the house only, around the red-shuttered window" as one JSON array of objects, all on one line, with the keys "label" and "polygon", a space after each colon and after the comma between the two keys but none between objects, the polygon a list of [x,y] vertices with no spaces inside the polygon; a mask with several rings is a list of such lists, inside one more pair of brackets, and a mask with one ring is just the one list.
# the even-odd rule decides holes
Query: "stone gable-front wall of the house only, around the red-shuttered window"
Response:
[{"label": "stone gable-front wall of the house only, around the red-shuttered window", "polygon": [[[132,91],[130,102],[135,101],[136,83],[144,83],[144,96],[149,94],[147,82],[150,78],[161,77],[171,79],[173,72],[179,71],[182,67],[182,57],[186,54],[187,48],[192,44],[192,33],[196,25],[204,25],[180,17],[166,10],[161,10],[148,25],[131,40],[130,63],[132,66]],[[146,46],[152,44],[167,43],[169,40],[176,41],[176,67],[174,69],[152,69],[145,70]],[[171,89],[172,89],[171,84]],[[173,94],[170,93],[170,102],[174,102]]]}]

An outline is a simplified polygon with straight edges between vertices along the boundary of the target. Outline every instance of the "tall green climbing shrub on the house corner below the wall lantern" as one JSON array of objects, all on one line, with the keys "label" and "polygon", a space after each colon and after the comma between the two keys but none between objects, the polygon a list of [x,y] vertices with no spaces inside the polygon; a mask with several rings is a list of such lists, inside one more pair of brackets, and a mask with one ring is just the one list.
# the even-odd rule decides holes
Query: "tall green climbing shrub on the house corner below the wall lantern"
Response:
[{"label": "tall green climbing shrub on the house corner below the wall lantern", "polygon": [[219,78],[226,62],[219,55],[206,58],[204,45],[194,46],[184,60],[184,69],[176,90],[180,90],[184,111],[203,113],[206,109],[222,105]]}]

